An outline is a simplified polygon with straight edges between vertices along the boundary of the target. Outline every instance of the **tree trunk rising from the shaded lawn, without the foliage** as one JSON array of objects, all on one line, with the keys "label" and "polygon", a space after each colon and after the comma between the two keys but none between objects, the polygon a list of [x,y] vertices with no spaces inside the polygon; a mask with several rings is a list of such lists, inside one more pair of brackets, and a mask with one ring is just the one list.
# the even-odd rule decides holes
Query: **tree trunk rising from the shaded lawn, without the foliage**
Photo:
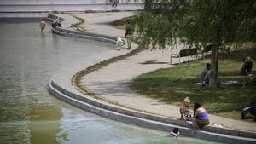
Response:
[{"label": "tree trunk rising from the shaded lawn, without the foliage", "polygon": [[216,87],[218,74],[218,44],[212,46],[211,72],[209,78],[209,86]]}]

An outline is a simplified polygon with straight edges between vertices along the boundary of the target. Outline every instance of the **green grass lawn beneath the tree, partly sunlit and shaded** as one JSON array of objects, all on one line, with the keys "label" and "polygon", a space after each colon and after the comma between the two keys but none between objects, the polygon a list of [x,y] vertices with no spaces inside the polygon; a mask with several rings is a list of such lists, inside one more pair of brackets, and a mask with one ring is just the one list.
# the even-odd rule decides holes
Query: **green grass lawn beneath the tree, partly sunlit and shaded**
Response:
[{"label": "green grass lawn beneath the tree, partly sunlit and shaded", "polygon": [[[251,46],[252,47],[252,46]],[[242,81],[239,73],[244,56],[251,56],[253,62],[253,77],[244,78],[251,82],[256,78],[256,48],[237,49],[226,55],[224,60],[220,55],[218,61],[219,81]],[[186,96],[190,97],[190,108],[193,109],[195,101],[201,101],[207,112],[225,118],[241,118],[241,109],[250,101],[256,100],[256,86],[246,85],[221,88],[201,87],[201,71],[210,59],[195,60],[181,66],[160,69],[138,76],[131,82],[131,89],[151,98],[166,101],[172,105],[180,106]],[[252,121],[252,119],[248,120]]]}]

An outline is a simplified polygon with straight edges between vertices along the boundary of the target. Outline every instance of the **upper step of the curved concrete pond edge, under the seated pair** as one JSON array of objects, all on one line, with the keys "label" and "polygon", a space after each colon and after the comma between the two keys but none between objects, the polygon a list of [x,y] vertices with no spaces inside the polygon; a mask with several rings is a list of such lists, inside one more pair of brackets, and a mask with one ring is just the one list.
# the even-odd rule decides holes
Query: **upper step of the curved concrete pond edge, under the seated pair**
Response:
[{"label": "upper step of the curved concrete pond edge, under the seated pair", "polygon": [[[61,86],[55,84],[54,81],[52,82],[52,85],[53,85],[53,87],[55,87],[55,89],[60,91],[62,94],[68,95],[68,96],[72,97],[73,99],[76,99],[79,101],[84,101],[94,107],[100,107],[100,108],[106,109],[108,111],[119,112],[121,114],[125,114],[125,115],[132,116],[132,117],[154,120],[154,121],[158,121],[161,123],[173,124],[173,125],[178,125],[181,127],[192,128],[191,123],[189,124],[189,123],[183,122],[179,119],[167,118],[167,117],[155,115],[155,114],[148,113],[148,112],[138,112],[136,110],[131,110],[129,108],[127,109],[125,107],[119,107],[119,106],[116,106],[113,104],[109,104],[108,102],[106,102],[107,104],[104,104],[101,101],[97,101],[95,98],[88,96],[88,95],[73,94],[72,92],[69,92],[68,90],[63,89],[63,88],[61,88]],[[203,128],[203,130],[207,131],[207,132],[217,133],[217,134],[255,138],[254,133],[250,133],[247,131],[241,131],[241,130],[230,130],[230,129],[218,128],[218,127],[214,127],[214,126],[205,126]]]}]

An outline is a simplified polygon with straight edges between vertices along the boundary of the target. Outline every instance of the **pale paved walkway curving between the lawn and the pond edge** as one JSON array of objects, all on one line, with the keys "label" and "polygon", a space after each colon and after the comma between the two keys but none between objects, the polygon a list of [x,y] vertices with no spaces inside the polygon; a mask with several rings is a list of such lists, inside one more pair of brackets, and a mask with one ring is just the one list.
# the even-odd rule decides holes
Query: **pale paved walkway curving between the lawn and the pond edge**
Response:
[{"label": "pale paved walkway curving between the lawn and the pond edge", "polygon": [[[85,19],[84,27],[89,32],[96,32],[111,36],[124,36],[125,31],[117,30],[108,26],[108,22],[118,20],[121,17],[129,16],[131,12],[118,13],[96,13],[96,14],[75,14]],[[59,14],[65,19],[71,18],[67,14]],[[71,18],[73,19],[73,18]],[[69,20],[71,21],[71,20]],[[71,25],[66,23],[67,25]],[[65,26],[65,25],[64,25]],[[179,46],[178,49],[181,49]],[[178,49],[175,49],[177,51]],[[122,51],[122,50],[121,50]],[[125,107],[132,107],[146,112],[152,112],[170,118],[179,118],[179,107],[153,100],[144,95],[137,94],[129,88],[129,82],[138,75],[151,72],[159,68],[172,67],[169,65],[171,49],[165,51],[143,51],[138,55],[131,56],[125,60],[119,60],[113,64],[103,67],[100,70],[91,72],[84,76],[83,84],[96,95],[101,95],[110,101],[116,101]],[[154,61],[153,64],[143,64],[147,61]],[[175,61],[174,61],[175,62]],[[184,95],[184,97],[187,95]],[[221,118],[210,115],[212,123],[223,124],[224,127],[235,130],[249,130],[256,132],[255,123],[247,123],[229,118]]]}]

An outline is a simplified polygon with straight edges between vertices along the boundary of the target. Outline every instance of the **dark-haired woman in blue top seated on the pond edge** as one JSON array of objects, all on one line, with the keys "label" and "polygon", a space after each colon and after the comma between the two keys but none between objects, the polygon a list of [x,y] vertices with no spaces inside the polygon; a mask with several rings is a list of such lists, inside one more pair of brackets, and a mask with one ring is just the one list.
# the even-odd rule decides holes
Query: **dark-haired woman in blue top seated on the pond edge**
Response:
[{"label": "dark-haired woman in blue top seated on the pond edge", "polygon": [[204,107],[201,107],[200,102],[195,102],[194,105],[194,118],[192,122],[196,129],[201,130],[205,125],[210,124],[210,120],[207,111]]}]

